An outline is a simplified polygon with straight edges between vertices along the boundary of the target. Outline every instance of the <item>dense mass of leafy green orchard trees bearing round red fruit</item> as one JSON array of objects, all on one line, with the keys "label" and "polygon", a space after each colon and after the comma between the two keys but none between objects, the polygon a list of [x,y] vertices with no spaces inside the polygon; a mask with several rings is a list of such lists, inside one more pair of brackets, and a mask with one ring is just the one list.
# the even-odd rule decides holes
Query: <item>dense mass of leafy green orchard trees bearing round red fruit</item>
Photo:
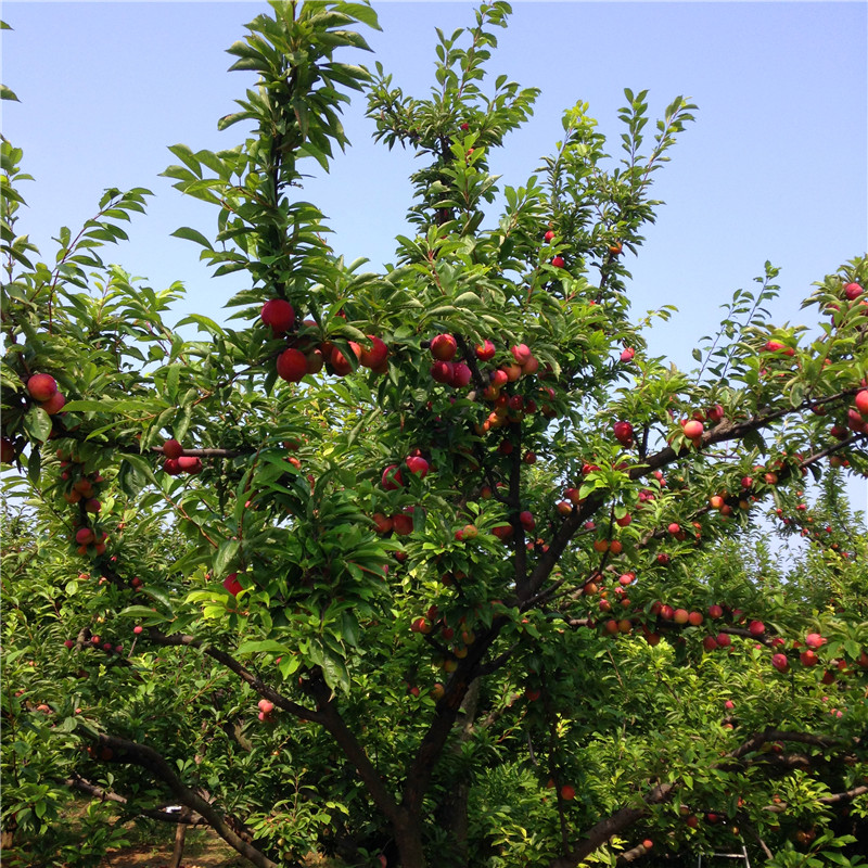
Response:
[{"label": "dense mass of leafy green orchard trees bearing round red fruit", "polygon": [[[840,514],[793,574],[733,547],[768,501],[817,539],[833,464],[868,467],[868,264],[817,284],[812,330],[767,321],[767,264],[697,370],[649,358],[668,310],[631,314],[626,261],[694,106],[648,141],[627,91],[613,159],[577,104],[539,174],[500,187],[488,154],[536,95],[486,86],[508,13],[439,35],[426,98],[334,60],[367,48],[347,29],[376,26],[367,5],[248,25],[229,51],[259,85],[220,126],[251,138],[175,145],[166,171],[218,212],[214,239],[176,234],[250,276],[239,329],[170,328],[180,286],[103,261],[143,189],[35,261],[3,141],[2,458],[27,498],[3,551],[3,822],[27,847],[51,851],[72,790],[171,822],[180,803],[257,866],[561,868],[742,839],[857,863],[864,540]],[[299,197],[352,91],[422,166],[384,273]],[[809,473],[831,480],[816,514]]]}]

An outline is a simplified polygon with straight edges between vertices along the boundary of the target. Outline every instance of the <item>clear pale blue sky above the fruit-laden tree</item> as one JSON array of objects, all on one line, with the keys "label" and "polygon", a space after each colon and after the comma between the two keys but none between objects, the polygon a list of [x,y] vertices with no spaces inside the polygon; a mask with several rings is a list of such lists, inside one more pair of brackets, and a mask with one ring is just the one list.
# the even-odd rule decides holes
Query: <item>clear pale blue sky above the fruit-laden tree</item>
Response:
[{"label": "clear pale blue sky above the fruit-laden tree", "polygon": [[[423,95],[432,82],[434,27],[472,24],[465,2],[374,3],[383,33],[366,38],[395,84]],[[196,245],[170,238],[181,225],[212,234],[216,213],[184,200],[157,177],[176,162],[166,150],[233,146],[240,127],[217,132],[253,78],[227,74],[224,51],[258,2],[52,3],[7,0],[2,78],[22,100],[3,104],[3,133],[24,149],[36,178],[25,196],[29,232],[48,239],[94,209],[106,187],[148,187],[148,217],[131,243],[110,253],[151,285],[182,280],[191,310],[222,319],[242,284],[210,279]],[[868,239],[868,4],[865,2],[515,2],[498,30],[490,64],[542,89],[531,123],[493,156],[503,182],[521,184],[551,152],[561,113],[577,100],[618,150],[623,89],[649,89],[653,116],[677,94],[699,105],[654,195],[667,204],[646,232],[629,294],[639,314],[675,304],[655,328],[651,352],[691,367],[697,339],[719,321],[718,306],[752,285],[770,259],[782,268],[779,320],[804,321],[810,284]],[[345,54],[371,64],[372,55]],[[358,100],[345,115],[353,148],[306,195],[335,230],[333,244],[374,267],[390,261],[405,230],[411,155],[370,141]],[[649,125],[650,130],[651,125]],[[650,138],[650,136],[649,136]],[[50,259],[47,259],[50,261]],[[857,505],[864,506],[859,495]]]}]

